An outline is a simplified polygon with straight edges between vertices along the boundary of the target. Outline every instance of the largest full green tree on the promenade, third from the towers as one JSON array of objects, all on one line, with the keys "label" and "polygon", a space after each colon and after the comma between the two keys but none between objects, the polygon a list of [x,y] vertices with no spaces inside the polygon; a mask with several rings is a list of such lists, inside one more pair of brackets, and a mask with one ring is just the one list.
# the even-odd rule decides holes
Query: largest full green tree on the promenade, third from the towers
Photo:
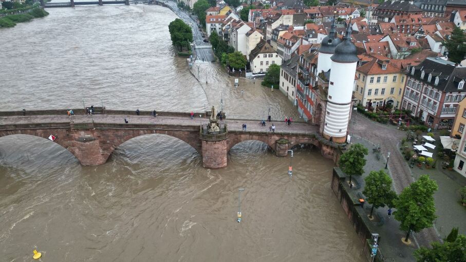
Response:
[{"label": "largest full green tree on the promenade, third from the towers", "polygon": [[394,201],[397,211],[393,214],[401,222],[400,229],[406,231],[404,241],[408,241],[411,231],[419,232],[432,227],[435,215],[434,193],[438,185],[427,175],[403,189]]}]

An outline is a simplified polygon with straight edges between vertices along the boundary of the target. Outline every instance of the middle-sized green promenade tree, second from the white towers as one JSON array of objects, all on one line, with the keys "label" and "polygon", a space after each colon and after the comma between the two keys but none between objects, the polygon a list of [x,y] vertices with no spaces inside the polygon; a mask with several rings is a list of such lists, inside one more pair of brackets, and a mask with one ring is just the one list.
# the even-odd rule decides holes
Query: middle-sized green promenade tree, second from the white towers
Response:
[{"label": "middle-sized green promenade tree, second from the white towers", "polygon": [[372,205],[369,215],[372,217],[374,208],[382,208],[391,204],[396,193],[392,190],[392,178],[383,170],[371,171],[364,181],[366,184],[362,193],[366,196],[367,202]]}]

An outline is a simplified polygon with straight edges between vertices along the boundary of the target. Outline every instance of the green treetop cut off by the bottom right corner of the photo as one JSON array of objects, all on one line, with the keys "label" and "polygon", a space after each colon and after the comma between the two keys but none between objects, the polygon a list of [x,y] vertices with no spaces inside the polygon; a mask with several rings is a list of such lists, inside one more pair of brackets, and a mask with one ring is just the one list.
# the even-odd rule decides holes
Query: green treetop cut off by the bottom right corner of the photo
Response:
[{"label": "green treetop cut off by the bottom right corner of the photo", "polygon": [[432,249],[421,247],[414,251],[418,262],[466,261],[466,236],[458,235],[453,241],[432,242]]}]

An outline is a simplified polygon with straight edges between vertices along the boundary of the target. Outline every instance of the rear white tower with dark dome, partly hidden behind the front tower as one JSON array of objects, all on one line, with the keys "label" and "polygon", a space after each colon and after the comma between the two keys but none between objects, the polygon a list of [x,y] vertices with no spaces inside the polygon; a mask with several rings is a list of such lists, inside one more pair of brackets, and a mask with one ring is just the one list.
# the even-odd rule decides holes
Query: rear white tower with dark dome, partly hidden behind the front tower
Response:
[{"label": "rear white tower with dark dome, partly hidden behind the front tower", "polygon": [[342,41],[337,36],[337,26],[335,25],[335,12],[333,12],[333,22],[330,27],[330,32],[325,38],[322,40],[321,47],[319,48],[319,59],[317,61],[317,73],[321,73],[322,70],[327,72],[330,69],[332,61],[330,58],[332,57],[333,53],[335,52],[335,48],[338,44]]}]

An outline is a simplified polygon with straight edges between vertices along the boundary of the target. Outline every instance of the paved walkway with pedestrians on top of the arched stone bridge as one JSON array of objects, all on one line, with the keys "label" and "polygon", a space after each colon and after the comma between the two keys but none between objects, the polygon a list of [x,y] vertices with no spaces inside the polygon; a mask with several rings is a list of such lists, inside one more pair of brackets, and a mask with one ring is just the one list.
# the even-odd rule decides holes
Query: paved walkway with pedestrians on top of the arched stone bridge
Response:
[{"label": "paved walkway with pedestrians on top of the arched stone bridge", "polygon": [[[65,111],[65,110],[64,110]],[[179,126],[192,126],[192,125],[207,125],[208,118],[195,117],[175,117],[175,116],[147,116],[147,115],[74,115],[68,117],[67,115],[38,115],[38,116],[7,116],[0,117],[0,129],[2,125],[11,124],[38,124],[38,123],[109,123],[120,124],[124,123],[127,119],[131,124],[160,124],[160,125],[179,125]],[[228,130],[241,131],[243,124],[247,125],[248,132],[269,132],[269,127],[272,123],[276,126],[275,132],[277,133],[291,133],[291,134],[313,134],[318,132],[319,127],[316,125],[307,124],[304,122],[292,122],[291,125],[286,124],[284,121],[266,122],[266,126],[259,125],[259,120],[241,120],[241,119],[225,119],[220,121],[222,124],[228,124]]]}]

